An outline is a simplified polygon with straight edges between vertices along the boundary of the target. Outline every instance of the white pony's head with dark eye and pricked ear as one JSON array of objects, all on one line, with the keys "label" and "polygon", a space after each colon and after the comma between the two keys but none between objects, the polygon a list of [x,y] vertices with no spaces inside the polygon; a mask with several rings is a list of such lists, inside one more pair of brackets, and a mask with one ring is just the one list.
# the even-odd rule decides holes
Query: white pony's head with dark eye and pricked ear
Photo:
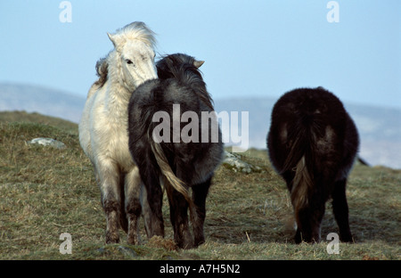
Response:
[{"label": "white pony's head with dark eye and pricked ear", "polygon": [[109,74],[114,74],[114,78],[118,78],[128,90],[157,78],[153,50],[156,40],[143,22],[135,21],[115,34],[107,35],[115,48],[115,52],[109,55],[112,59],[108,59]]}]

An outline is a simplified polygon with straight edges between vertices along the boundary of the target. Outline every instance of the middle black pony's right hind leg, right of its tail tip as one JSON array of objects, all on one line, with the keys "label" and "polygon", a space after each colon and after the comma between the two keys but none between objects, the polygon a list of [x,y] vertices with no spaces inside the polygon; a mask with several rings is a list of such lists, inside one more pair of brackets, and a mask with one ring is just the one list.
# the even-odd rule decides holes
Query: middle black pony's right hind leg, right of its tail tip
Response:
[{"label": "middle black pony's right hind leg, right of its tail tip", "polygon": [[192,200],[196,210],[196,217],[193,217],[192,223],[195,246],[199,246],[205,242],[203,225],[206,217],[206,197],[208,196],[210,184],[211,177],[202,184],[195,184],[192,186]]}]

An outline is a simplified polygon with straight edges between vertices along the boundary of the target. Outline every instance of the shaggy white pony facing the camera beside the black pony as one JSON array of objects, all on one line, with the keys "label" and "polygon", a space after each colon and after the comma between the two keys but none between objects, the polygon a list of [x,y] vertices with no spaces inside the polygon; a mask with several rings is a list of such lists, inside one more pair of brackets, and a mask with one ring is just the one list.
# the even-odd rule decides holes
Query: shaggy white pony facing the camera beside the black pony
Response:
[{"label": "shaggy white pony facing the camera beside the black pony", "polygon": [[141,178],[128,150],[127,107],[136,87],[157,78],[154,33],[133,22],[108,36],[114,49],[96,63],[99,80],[91,86],[79,123],[79,142],[94,165],[106,214],[106,242],[119,242],[119,226],[128,243],[138,241]]}]

